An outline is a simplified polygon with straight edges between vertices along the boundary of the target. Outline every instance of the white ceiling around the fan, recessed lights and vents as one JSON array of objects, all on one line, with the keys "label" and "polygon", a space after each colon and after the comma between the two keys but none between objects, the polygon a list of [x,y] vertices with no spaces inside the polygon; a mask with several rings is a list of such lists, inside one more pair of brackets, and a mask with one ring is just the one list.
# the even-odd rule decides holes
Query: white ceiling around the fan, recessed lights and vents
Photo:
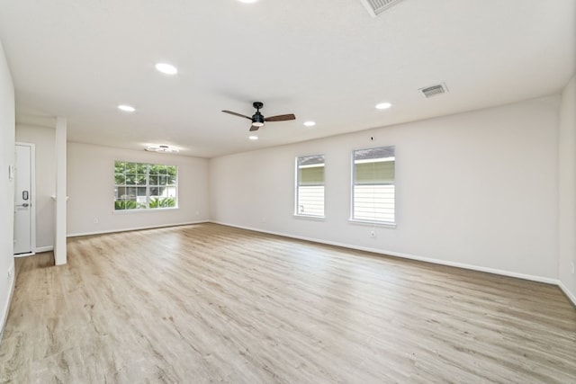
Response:
[{"label": "white ceiling around the fan, recessed lights and vents", "polygon": [[[559,93],[575,12],[575,0],[404,0],[376,18],[360,0],[0,0],[0,40],[18,121],[63,116],[70,141],[213,157]],[[438,83],[450,92],[419,93]],[[250,121],[220,110],[251,115],[254,101],[297,120],[250,141]]]}]

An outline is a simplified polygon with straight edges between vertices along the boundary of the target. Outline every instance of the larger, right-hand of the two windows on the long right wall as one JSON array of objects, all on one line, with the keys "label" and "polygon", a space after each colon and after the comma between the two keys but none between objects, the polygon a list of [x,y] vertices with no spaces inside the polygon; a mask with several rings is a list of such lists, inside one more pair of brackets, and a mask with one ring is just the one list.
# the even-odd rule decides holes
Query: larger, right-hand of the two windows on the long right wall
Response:
[{"label": "larger, right-hand of the two windows on the long right wall", "polygon": [[394,147],[353,152],[352,219],[394,224]]}]

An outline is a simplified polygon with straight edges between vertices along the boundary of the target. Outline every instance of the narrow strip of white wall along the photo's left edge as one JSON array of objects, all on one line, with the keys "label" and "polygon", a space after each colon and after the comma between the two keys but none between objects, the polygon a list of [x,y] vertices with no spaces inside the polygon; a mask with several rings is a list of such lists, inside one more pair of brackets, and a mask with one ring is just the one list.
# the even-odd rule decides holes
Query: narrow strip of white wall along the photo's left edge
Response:
[{"label": "narrow strip of white wall along the photo's left edge", "polygon": [[8,167],[14,166],[14,83],[0,42],[0,333],[14,290],[14,182]]}]

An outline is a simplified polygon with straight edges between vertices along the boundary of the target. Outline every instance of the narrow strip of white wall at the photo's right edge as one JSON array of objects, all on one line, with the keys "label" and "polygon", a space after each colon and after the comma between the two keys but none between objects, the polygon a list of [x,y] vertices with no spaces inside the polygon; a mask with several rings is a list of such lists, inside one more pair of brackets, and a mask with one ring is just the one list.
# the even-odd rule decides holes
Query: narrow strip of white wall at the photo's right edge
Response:
[{"label": "narrow strip of white wall at the photo's right edge", "polygon": [[559,270],[563,290],[576,303],[576,76],[564,88],[560,109]]}]

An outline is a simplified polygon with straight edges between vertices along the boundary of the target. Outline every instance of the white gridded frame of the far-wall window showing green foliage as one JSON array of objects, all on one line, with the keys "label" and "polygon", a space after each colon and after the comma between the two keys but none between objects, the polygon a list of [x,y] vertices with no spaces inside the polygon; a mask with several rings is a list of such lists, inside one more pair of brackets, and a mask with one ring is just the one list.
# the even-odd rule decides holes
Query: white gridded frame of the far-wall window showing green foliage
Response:
[{"label": "white gridded frame of the far-wall window showing green foliage", "polygon": [[[138,183],[138,184],[117,183],[116,176],[123,175],[126,178],[129,175],[129,173],[126,173],[125,171],[123,173],[117,173],[116,172],[116,164],[117,163],[132,164],[135,166],[144,165],[146,167],[145,173],[135,174],[137,176],[139,175],[140,177],[143,176],[144,177],[144,183]],[[175,175],[170,175],[168,173],[166,173],[166,174],[150,174],[150,168],[151,167],[158,167],[158,166],[160,166],[160,167],[168,167],[168,166],[174,167],[175,168]],[[159,181],[159,179],[157,180],[157,183],[152,183],[152,178],[155,176],[158,176],[158,177],[173,176],[175,179],[175,183],[167,183],[167,181],[166,181],[166,184],[162,184]],[[118,201],[124,201],[124,204],[126,207],[127,206],[126,203],[129,200],[118,199],[119,188],[124,188],[125,192],[127,192],[126,190],[128,190],[129,188],[141,188],[141,189],[145,189],[146,194],[145,195],[139,195],[137,192],[137,194],[135,195],[135,201],[134,201],[136,204],[136,207],[130,208],[130,209],[128,209],[128,208],[121,209],[121,208],[118,208],[117,202]],[[152,190],[154,188],[165,188],[165,192],[170,191],[170,190],[174,190],[174,196],[166,195],[163,199],[163,200],[165,200],[165,202],[163,202],[163,203],[170,203],[166,199],[173,199],[174,205],[150,207],[151,201],[153,201],[153,199],[155,199],[157,197],[160,197],[160,195],[158,195],[158,194],[152,194]],[[144,197],[144,199],[141,199],[142,197]],[[113,200],[114,200],[114,209],[113,209],[114,213],[178,209],[178,166],[177,165],[166,165],[166,164],[151,164],[151,163],[144,163],[144,162],[138,162],[138,161],[115,160],[114,161],[114,198],[113,198]],[[133,200],[130,199],[130,201],[133,201]]]}]

